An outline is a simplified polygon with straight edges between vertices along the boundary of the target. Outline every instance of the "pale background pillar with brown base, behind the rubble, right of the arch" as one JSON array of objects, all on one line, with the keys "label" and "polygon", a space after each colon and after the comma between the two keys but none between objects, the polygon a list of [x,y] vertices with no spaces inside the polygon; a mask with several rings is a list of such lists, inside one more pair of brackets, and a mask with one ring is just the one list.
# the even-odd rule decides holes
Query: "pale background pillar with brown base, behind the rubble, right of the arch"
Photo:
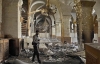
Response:
[{"label": "pale background pillar with brown base, behind the rubble, right of the arch", "polygon": [[67,41],[68,43],[71,43],[70,21],[69,21],[70,18],[71,18],[70,15],[64,15],[63,16],[64,41]]}]

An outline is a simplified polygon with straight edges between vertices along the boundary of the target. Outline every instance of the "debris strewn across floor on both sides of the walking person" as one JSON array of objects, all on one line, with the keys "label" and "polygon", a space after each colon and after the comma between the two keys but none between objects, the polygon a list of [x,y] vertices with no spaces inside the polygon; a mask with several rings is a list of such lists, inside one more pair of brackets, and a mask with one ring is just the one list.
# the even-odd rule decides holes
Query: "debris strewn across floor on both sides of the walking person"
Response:
[{"label": "debris strewn across floor on both sides of the walking person", "polygon": [[[53,40],[54,41],[54,40]],[[59,42],[42,43],[45,48],[40,49],[42,64],[85,64],[85,52],[79,51],[78,44]],[[23,49],[18,57],[9,57],[4,64],[38,64],[32,63],[33,49]]]}]

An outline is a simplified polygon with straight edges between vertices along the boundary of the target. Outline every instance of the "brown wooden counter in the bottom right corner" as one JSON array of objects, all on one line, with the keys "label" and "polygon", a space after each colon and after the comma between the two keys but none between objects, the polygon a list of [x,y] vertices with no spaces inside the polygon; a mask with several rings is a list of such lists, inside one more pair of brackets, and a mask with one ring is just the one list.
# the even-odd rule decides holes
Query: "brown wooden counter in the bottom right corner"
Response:
[{"label": "brown wooden counter in the bottom right corner", "polygon": [[100,64],[100,43],[86,43],[86,64]]}]

